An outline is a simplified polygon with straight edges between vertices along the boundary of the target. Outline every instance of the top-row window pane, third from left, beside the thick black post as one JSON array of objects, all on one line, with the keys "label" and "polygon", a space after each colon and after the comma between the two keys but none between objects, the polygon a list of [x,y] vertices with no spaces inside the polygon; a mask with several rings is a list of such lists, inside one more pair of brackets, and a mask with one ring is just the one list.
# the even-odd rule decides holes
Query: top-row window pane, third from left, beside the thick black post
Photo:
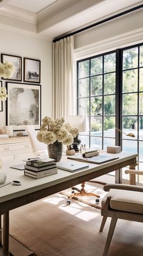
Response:
[{"label": "top-row window pane, third from left, beside the thick black post", "polygon": [[116,70],[116,54],[104,56],[104,73],[114,72]]}]

